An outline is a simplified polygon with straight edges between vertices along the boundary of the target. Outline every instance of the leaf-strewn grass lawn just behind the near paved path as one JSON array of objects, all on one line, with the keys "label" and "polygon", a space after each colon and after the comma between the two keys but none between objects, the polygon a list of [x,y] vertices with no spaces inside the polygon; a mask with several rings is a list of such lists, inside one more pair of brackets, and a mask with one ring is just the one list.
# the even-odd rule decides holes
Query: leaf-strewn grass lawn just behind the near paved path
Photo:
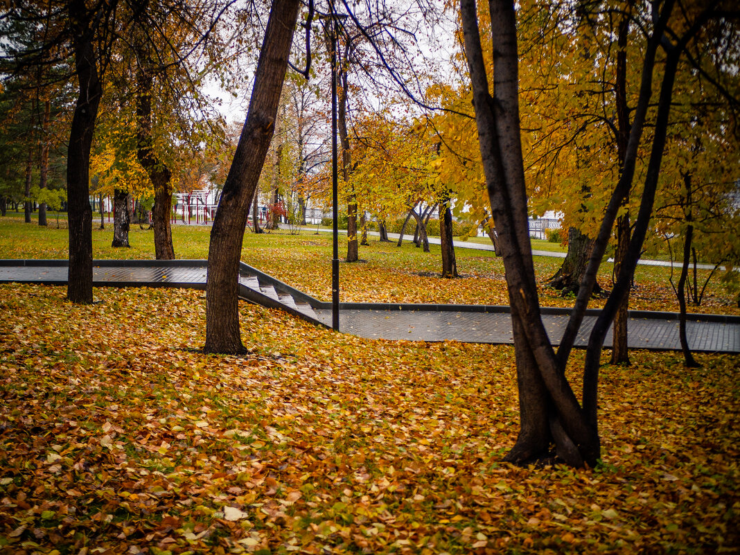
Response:
[{"label": "leaf-strewn grass lawn just behind the near paved path", "polygon": [[[173,226],[175,253],[178,258],[207,258],[209,227]],[[133,226],[130,232],[132,247],[114,249],[110,246],[112,229],[92,232],[95,258],[154,258],[153,233]],[[340,244],[340,253],[346,252],[346,239]],[[553,243],[551,243],[553,244]],[[321,300],[331,300],[331,238],[287,232],[244,237],[242,259],[264,272],[275,275],[297,289],[302,289]],[[0,219],[0,258],[67,258],[67,230],[39,228],[24,224],[19,218]],[[341,264],[341,298],[354,302],[389,303],[468,303],[508,304],[503,263],[492,252],[457,249],[457,268],[463,277],[443,280],[440,275],[440,248],[431,246],[431,253],[421,252],[411,243],[400,248],[395,243],[379,243],[361,247],[363,263]],[[540,280],[554,275],[562,260],[535,257],[535,268]],[[605,263],[599,277],[606,289],[610,288],[613,265]],[[699,271],[700,283],[707,271]],[[658,266],[638,266],[635,286],[630,297],[630,308],[677,312],[678,301],[669,282],[670,269]],[[674,272],[674,283],[678,272]],[[573,297],[561,297],[559,292],[540,287],[543,306],[572,306]],[[710,280],[701,306],[689,306],[689,312],[740,314],[730,293],[717,276]],[[594,299],[592,306],[601,306],[603,300]]]}]

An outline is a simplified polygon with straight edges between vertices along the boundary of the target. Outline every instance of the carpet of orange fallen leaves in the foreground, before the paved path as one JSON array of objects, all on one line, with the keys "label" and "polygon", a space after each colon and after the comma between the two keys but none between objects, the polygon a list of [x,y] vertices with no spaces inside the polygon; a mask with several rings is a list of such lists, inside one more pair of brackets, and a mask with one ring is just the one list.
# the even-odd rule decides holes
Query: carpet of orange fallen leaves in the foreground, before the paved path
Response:
[{"label": "carpet of orange fallen leaves in the foreground, before the paved path", "polygon": [[64,294],[0,286],[0,553],[740,545],[738,357],[605,366],[602,464],[518,468],[500,462],[510,346],[363,340],[243,303],[250,353],[206,356],[202,292]]}]

